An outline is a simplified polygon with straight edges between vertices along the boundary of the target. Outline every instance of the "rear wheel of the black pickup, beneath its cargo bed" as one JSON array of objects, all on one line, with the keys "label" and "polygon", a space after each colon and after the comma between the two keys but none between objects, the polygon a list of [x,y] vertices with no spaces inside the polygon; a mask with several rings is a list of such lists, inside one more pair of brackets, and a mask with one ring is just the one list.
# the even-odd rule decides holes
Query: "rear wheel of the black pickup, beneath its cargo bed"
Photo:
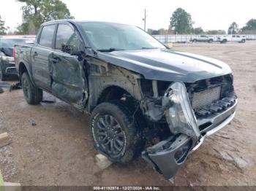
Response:
[{"label": "rear wheel of the black pickup, beneath its cargo bed", "polygon": [[27,72],[22,74],[21,86],[23,88],[23,94],[28,104],[37,105],[42,101],[42,90],[32,84]]}]

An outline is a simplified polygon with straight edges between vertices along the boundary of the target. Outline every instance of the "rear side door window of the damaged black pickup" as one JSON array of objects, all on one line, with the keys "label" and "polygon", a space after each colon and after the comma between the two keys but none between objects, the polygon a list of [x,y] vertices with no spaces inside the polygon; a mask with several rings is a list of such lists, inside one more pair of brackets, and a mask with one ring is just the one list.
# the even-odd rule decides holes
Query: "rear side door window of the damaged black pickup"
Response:
[{"label": "rear side door window of the damaged black pickup", "polygon": [[55,31],[55,25],[44,26],[39,39],[39,44],[43,47],[51,47],[53,42],[53,36]]}]

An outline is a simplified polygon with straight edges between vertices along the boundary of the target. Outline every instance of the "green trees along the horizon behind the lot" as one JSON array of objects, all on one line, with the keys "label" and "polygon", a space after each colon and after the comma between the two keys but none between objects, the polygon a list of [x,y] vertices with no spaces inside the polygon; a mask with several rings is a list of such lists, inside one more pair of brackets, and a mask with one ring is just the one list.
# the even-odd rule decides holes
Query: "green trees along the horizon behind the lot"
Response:
[{"label": "green trees along the horizon behind the lot", "polygon": [[[61,0],[18,0],[25,3],[22,7],[22,20],[14,34],[37,34],[39,26],[50,20],[74,18]],[[224,30],[203,31],[203,28],[193,27],[192,16],[184,9],[178,8],[170,17],[170,27],[154,30],[148,28],[148,33],[157,34],[226,34]],[[8,27],[0,15],[0,35],[7,34]],[[256,34],[256,19],[251,19],[246,26],[239,28],[236,22],[227,29],[228,34]]]}]

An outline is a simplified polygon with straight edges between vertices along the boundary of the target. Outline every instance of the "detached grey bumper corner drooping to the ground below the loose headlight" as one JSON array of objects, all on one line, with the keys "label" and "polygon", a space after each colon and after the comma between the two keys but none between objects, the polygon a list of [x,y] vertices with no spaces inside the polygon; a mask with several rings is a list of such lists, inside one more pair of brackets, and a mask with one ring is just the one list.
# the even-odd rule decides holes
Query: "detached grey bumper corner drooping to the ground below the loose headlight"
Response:
[{"label": "detached grey bumper corner drooping to the ground below the loose headlight", "polygon": [[192,139],[181,134],[147,148],[143,151],[142,157],[165,176],[165,179],[172,179],[187,159],[191,148]]}]

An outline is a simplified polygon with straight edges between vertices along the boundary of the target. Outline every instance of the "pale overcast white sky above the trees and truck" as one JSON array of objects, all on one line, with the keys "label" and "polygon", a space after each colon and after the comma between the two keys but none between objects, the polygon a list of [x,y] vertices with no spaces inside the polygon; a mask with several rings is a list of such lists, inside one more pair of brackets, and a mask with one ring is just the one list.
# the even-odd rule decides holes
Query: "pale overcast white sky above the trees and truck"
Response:
[{"label": "pale overcast white sky above the trees and truck", "polygon": [[[79,20],[128,23],[143,28],[143,9],[147,9],[147,28],[167,28],[170,15],[181,7],[192,15],[194,26],[204,30],[227,30],[236,21],[239,27],[256,18],[256,1],[225,0],[62,0]],[[15,28],[22,22],[22,3],[0,0],[0,15],[6,25]]]}]

